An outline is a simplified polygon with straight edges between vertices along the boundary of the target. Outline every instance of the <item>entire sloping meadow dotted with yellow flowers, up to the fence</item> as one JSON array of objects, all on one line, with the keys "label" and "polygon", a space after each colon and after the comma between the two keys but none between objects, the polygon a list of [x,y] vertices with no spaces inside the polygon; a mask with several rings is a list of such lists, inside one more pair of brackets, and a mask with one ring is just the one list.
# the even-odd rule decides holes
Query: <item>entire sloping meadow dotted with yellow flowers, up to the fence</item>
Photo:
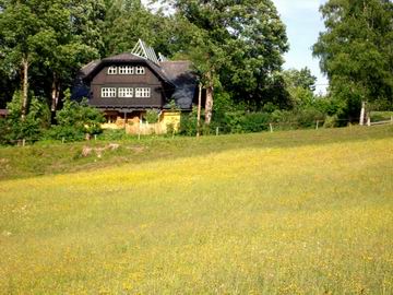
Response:
[{"label": "entire sloping meadow dotted with yellow flowers, up to the fence", "polygon": [[0,149],[0,294],[393,294],[392,126],[85,144]]}]

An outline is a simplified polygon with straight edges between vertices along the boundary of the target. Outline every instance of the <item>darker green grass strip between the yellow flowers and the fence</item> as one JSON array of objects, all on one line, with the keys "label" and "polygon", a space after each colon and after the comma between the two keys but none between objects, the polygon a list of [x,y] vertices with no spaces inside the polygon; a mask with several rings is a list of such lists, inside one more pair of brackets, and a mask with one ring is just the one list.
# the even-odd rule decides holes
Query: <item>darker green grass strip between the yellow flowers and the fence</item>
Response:
[{"label": "darker green grass strip between the yellow flowers and the fence", "polygon": [[[352,127],[343,129],[297,130],[290,132],[250,133],[219,137],[162,138],[146,137],[122,141],[91,141],[79,143],[41,142],[25,148],[0,146],[0,180],[52,175],[122,165],[140,164],[157,160],[174,160],[206,153],[217,153],[243,148],[295,148],[300,145],[324,145],[335,142],[354,142],[392,137],[393,126],[372,129]],[[95,153],[82,157],[84,146],[105,148],[119,143],[116,151],[105,151],[102,157]]]}]

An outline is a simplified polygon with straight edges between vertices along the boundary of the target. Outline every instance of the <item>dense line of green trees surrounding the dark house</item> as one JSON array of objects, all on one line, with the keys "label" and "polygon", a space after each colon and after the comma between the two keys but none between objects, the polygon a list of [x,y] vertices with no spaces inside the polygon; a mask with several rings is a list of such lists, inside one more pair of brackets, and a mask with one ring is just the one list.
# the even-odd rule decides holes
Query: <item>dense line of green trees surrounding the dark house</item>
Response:
[{"label": "dense line of green trees surrounding the dark house", "polygon": [[83,64],[130,51],[138,38],[168,58],[193,61],[206,90],[206,125],[250,111],[356,118],[360,101],[392,108],[389,0],[330,0],[321,8],[327,31],[313,54],[331,82],[326,97],[314,95],[307,68],[283,71],[289,45],[271,0],[151,2],[166,9],[152,12],[140,0],[1,0],[0,108],[9,104],[13,113],[14,138],[50,126]]}]

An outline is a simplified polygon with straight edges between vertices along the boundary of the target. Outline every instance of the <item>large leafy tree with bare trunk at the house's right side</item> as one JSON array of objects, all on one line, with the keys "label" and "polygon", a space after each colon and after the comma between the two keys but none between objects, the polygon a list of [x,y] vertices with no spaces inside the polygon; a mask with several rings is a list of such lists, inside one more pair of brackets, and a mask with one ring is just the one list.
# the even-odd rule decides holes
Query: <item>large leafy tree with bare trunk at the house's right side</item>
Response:
[{"label": "large leafy tree with bare trunk at the house's right side", "polygon": [[[269,76],[281,70],[288,49],[285,26],[271,0],[174,0],[178,14],[198,30],[187,45],[202,70],[207,92],[205,121],[210,122],[213,87],[242,101],[263,102]],[[187,50],[187,49],[186,49]],[[201,62],[201,63],[199,63]],[[199,64],[198,64],[199,63]]]}]

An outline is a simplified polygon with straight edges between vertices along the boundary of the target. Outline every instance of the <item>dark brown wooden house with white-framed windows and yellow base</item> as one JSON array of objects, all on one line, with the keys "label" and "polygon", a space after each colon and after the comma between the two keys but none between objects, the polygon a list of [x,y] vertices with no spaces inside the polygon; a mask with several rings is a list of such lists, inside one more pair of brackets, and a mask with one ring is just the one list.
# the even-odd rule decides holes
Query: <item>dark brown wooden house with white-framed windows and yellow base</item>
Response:
[{"label": "dark brown wooden house with white-framed windows and yellow base", "polygon": [[180,111],[190,111],[198,97],[190,61],[158,59],[142,40],[132,52],[86,64],[78,81],[73,96],[86,96],[91,106],[103,110],[107,119],[104,128],[127,127],[130,133],[141,132],[141,128],[148,132],[148,109],[158,115],[154,132],[165,132],[168,125],[177,128]]}]

